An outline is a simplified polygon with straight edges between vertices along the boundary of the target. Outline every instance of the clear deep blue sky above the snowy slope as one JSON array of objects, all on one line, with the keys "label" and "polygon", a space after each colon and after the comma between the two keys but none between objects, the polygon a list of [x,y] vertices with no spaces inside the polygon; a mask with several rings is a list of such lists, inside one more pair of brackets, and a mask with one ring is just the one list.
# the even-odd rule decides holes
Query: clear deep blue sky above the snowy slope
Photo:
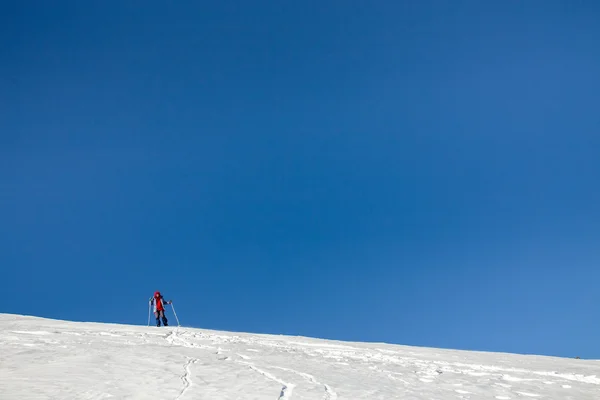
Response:
[{"label": "clear deep blue sky above the snowy slope", "polygon": [[31,3],[0,312],[600,358],[597,2]]}]

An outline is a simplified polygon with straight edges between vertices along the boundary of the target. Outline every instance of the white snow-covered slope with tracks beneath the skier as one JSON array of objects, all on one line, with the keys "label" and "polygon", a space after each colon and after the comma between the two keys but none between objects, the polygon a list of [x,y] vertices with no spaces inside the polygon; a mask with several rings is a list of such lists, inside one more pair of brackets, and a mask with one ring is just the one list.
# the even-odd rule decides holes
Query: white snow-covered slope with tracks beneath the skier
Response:
[{"label": "white snow-covered slope with tracks beneath the skier", "polygon": [[600,399],[600,361],[0,314],[0,399]]}]

